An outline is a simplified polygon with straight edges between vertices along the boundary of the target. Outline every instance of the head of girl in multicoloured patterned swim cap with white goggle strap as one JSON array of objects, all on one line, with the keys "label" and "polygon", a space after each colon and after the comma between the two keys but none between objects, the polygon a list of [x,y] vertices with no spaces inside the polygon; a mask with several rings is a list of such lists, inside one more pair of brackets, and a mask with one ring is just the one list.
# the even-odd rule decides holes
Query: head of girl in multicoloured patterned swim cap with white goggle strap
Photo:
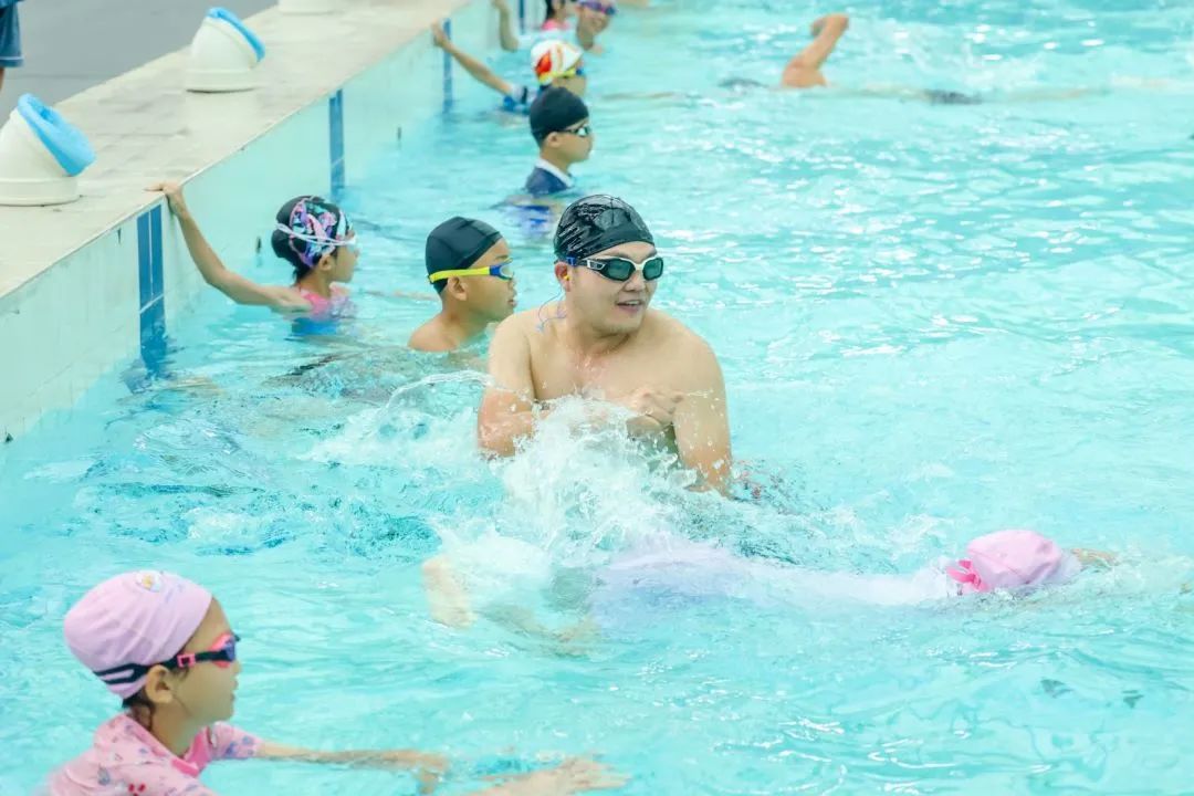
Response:
[{"label": "head of girl in multicoloured patterned swim cap with white goggle strap", "polygon": [[337,205],[318,196],[300,196],[278,210],[270,236],[273,253],[294,266],[295,282],[315,270],[328,282],[350,282],[357,264],[356,233]]}]

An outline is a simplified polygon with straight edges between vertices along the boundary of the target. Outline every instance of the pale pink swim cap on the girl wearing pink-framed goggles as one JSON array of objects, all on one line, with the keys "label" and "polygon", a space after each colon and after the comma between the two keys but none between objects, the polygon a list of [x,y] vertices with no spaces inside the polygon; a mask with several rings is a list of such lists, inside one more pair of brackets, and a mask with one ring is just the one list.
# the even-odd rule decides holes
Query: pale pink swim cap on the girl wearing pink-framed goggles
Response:
[{"label": "pale pink swim cap on the girl wearing pink-framed goggles", "polygon": [[176,655],[195,635],[211,593],[168,572],[127,572],[82,596],[67,611],[62,633],[74,656],[118,697],[141,690],[146,675],[128,680],[137,664]]}]

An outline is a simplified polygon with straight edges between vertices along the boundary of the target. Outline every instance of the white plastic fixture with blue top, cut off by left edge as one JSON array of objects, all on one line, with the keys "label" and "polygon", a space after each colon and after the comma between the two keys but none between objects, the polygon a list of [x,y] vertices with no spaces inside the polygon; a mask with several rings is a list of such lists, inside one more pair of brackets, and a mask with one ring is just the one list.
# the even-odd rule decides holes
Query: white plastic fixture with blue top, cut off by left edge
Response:
[{"label": "white plastic fixture with blue top, cut off by left edge", "polygon": [[87,137],[32,94],[0,128],[0,204],[64,204],[79,198],[82,169],[96,162]]}]

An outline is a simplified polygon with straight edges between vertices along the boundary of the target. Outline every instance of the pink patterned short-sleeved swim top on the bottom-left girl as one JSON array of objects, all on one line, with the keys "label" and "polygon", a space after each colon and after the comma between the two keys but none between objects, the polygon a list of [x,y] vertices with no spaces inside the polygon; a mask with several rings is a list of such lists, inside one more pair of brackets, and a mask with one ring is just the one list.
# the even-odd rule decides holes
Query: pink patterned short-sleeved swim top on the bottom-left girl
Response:
[{"label": "pink patterned short-sleeved swim top on the bottom-left girl", "polygon": [[128,714],[96,730],[92,747],[50,776],[50,796],[215,796],[199,782],[213,760],[244,760],[260,741],[232,724],[213,724],[183,757]]}]

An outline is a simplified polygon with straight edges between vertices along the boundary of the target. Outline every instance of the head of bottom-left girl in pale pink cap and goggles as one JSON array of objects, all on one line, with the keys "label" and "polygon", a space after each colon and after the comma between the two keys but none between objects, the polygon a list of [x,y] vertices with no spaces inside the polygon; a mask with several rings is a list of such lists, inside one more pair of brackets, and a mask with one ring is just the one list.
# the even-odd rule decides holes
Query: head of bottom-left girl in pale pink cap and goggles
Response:
[{"label": "head of bottom-left girl in pale pink cap and goggles", "polygon": [[208,726],[233,712],[236,636],[202,586],[165,572],[130,572],[87,592],[67,612],[67,646],[149,729]]}]

